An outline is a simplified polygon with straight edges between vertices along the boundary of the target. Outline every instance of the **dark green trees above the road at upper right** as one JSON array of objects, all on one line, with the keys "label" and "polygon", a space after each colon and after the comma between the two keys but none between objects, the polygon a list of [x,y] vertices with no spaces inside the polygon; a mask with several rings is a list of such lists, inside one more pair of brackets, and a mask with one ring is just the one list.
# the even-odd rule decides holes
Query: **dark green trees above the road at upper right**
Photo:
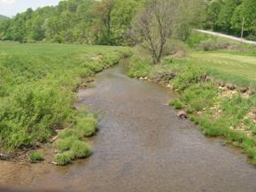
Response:
[{"label": "dark green trees above the road at upper right", "polygon": [[206,7],[206,29],[256,40],[255,0],[212,0]]}]

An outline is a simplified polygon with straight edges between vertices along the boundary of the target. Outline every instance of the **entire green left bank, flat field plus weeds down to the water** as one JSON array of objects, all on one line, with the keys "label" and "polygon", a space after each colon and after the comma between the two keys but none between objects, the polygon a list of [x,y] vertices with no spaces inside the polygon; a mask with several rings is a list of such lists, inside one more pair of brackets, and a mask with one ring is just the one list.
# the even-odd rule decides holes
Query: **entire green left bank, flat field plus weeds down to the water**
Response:
[{"label": "entire green left bank, flat field plus weeds down to the water", "polygon": [[[49,142],[59,129],[70,127],[59,138],[57,148],[65,153],[56,160],[66,164],[74,157],[87,157],[91,149],[82,144],[82,137],[94,134],[97,120],[74,110],[74,92],[83,79],[130,55],[122,47],[0,42],[2,150]],[[81,154],[74,154],[79,146]]]}]

